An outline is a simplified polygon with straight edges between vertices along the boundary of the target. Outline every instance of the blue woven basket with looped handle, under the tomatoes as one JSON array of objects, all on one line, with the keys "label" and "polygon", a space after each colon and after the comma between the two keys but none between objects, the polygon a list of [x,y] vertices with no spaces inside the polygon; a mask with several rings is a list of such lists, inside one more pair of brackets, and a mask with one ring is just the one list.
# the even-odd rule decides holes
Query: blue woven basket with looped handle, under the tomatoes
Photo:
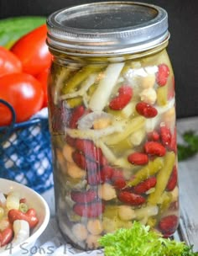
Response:
[{"label": "blue woven basket with looped handle, under the tomatoes", "polygon": [[0,103],[13,115],[11,125],[0,127],[0,177],[43,193],[53,186],[48,118],[16,124],[12,106]]}]

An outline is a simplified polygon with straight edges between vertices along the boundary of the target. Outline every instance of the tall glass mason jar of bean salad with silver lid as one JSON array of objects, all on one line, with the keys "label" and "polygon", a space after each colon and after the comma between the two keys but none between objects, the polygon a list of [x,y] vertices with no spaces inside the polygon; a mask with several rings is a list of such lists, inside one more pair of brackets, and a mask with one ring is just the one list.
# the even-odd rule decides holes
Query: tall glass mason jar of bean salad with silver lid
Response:
[{"label": "tall glass mason jar of bean salad with silver lid", "polygon": [[175,80],[163,8],[106,2],[50,15],[55,211],[77,248],[133,221],[179,220]]}]

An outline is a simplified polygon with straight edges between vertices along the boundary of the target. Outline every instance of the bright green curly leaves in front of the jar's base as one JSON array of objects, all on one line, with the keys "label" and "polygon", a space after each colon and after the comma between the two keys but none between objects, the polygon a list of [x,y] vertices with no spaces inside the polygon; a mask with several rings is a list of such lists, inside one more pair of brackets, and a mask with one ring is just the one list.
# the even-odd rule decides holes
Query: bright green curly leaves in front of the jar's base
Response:
[{"label": "bright green curly leaves in front of the jar's base", "polygon": [[163,238],[138,221],[100,238],[105,256],[198,256],[183,242]]}]

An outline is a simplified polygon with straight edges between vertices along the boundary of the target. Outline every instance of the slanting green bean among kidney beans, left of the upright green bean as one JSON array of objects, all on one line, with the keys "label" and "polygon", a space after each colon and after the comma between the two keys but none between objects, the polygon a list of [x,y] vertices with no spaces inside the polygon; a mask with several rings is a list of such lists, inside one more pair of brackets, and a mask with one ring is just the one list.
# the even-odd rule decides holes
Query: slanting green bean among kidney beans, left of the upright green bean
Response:
[{"label": "slanting green bean among kidney beans, left of the upright green bean", "polygon": [[164,167],[164,157],[157,157],[154,161],[149,161],[147,165],[138,170],[134,174],[134,179],[128,182],[128,186],[135,186],[155,173],[158,173],[161,168]]}]

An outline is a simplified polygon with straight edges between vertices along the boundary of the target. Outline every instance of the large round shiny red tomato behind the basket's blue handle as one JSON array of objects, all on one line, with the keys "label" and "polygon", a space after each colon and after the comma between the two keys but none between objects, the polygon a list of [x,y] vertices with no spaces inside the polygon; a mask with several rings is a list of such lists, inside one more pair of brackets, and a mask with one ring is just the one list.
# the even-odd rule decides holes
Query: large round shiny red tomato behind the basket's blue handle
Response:
[{"label": "large round shiny red tomato behind the basket's blue handle", "polygon": [[[23,122],[41,109],[44,92],[39,81],[33,76],[26,73],[8,74],[0,77],[0,99],[11,104],[17,122]],[[0,116],[0,125],[11,123],[11,112],[3,104],[0,104]]]}]

